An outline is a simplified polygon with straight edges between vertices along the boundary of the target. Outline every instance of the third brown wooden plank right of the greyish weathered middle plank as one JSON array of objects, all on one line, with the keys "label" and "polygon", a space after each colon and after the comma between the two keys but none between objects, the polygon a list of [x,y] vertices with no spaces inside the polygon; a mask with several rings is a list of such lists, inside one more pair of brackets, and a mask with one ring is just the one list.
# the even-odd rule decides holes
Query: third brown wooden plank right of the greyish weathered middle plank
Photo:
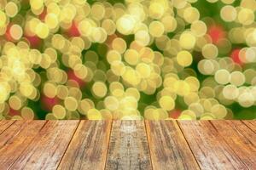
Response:
[{"label": "third brown wooden plank right of the greyish weathered middle plank", "polygon": [[249,169],[256,169],[256,133],[241,121],[212,121],[213,126]]}]

